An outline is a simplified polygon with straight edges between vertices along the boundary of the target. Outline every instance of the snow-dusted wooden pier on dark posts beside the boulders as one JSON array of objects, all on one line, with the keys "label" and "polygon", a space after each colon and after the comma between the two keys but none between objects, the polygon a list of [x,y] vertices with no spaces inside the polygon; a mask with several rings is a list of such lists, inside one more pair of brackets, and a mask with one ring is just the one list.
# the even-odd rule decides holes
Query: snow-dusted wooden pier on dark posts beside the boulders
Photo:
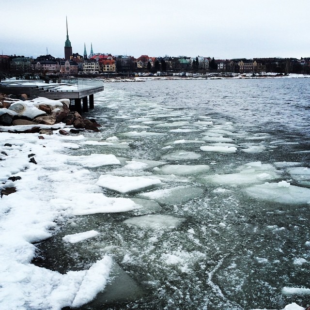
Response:
[{"label": "snow-dusted wooden pier on dark posts beside the boulders", "polygon": [[35,81],[2,81],[0,82],[0,93],[5,94],[27,94],[31,97],[45,97],[48,99],[70,99],[74,100],[74,109],[78,112],[87,112],[94,109],[93,94],[104,90],[102,80],[78,79],[76,82],[44,83]]}]

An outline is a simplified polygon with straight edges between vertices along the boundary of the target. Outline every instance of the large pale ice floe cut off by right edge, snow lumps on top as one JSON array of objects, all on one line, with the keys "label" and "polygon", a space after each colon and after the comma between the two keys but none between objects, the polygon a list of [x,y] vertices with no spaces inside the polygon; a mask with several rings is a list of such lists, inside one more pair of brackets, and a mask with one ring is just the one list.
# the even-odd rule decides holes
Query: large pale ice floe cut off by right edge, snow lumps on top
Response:
[{"label": "large pale ice floe cut off by right edge, snow lumps on top", "polygon": [[264,183],[250,186],[245,192],[255,199],[270,202],[306,204],[310,203],[310,188],[289,186],[278,186],[279,183]]}]

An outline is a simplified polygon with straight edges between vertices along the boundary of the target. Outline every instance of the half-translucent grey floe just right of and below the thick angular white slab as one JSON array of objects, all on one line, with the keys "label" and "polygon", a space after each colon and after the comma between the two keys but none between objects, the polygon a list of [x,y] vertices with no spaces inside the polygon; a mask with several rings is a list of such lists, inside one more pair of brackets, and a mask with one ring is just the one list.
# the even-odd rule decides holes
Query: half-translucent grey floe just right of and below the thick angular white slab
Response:
[{"label": "half-translucent grey floe just right of and below the thick angular white slab", "polygon": [[193,186],[176,186],[172,188],[157,189],[152,192],[142,193],[141,198],[155,200],[163,204],[177,204],[187,202],[195,197],[202,195],[203,189]]}]

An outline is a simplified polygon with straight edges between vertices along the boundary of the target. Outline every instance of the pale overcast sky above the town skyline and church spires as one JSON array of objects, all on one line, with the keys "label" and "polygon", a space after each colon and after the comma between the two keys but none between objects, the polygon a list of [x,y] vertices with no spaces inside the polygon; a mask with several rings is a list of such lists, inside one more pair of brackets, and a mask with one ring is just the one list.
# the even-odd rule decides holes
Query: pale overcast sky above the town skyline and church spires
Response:
[{"label": "pale overcast sky above the town skyline and church spires", "polygon": [[310,57],[310,0],[0,0],[3,55]]}]

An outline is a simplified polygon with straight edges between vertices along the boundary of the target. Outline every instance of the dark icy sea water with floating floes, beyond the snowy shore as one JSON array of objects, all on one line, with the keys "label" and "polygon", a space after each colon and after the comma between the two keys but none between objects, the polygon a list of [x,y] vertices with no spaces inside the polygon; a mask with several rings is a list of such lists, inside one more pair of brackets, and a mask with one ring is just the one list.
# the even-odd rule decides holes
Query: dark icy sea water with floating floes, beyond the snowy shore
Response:
[{"label": "dark icy sea water with floating floes, beyond the snowy shore", "polygon": [[[80,309],[308,306],[309,84],[106,83],[85,115],[103,125],[100,132],[83,133],[88,143],[68,153],[115,155],[120,164],[89,168],[98,179],[157,181],[129,192],[103,185],[106,196],[140,208],[72,217],[36,245],[34,263],[65,273],[109,254],[109,285]],[[99,235],[62,240],[85,231]]]}]

